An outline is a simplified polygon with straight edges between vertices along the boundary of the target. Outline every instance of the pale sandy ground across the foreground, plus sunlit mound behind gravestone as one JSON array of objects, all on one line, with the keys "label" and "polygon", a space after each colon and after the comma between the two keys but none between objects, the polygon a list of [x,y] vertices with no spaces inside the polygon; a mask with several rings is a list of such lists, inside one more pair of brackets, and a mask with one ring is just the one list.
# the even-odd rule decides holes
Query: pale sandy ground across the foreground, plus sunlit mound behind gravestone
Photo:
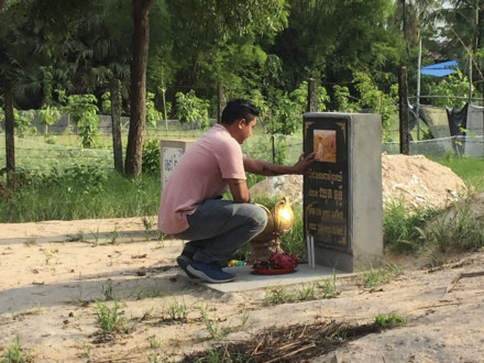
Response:
[{"label": "pale sandy ground across the foreground, plus sunlit mound behind gravestone", "polygon": [[[426,184],[422,169],[393,182],[384,176],[384,185],[391,190],[399,184],[394,190],[405,189],[410,202],[418,201],[417,191],[408,191]],[[452,174],[446,178],[459,182]],[[435,176],[432,186],[442,180]],[[442,193],[426,188],[427,198]],[[435,199],[459,193],[446,184],[444,197]],[[482,200],[474,198],[476,210]],[[362,334],[310,359],[293,352],[274,361],[484,362],[482,250],[450,255],[435,270],[427,268],[426,256],[385,254],[403,267],[385,285],[364,288],[362,275],[354,274],[337,279],[336,298],[266,306],[265,289],[221,294],[186,277],[175,264],[183,241],[160,241],[152,226],[154,217],[0,224],[0,361],[18,339],[32,362],[176,362],[266,329],[364,324],[396,314],[406,324]],[[124,332],[101,333],[99,304],[118,305]],[[222,331],[231,332],[217,334]]]}]

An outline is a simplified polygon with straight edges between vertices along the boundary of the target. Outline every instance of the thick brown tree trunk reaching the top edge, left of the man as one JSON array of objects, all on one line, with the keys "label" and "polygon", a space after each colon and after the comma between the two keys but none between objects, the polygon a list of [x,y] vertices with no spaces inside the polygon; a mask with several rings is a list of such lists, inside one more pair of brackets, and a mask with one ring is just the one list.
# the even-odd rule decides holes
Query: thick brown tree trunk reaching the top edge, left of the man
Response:
[{"label": "thick brown tree trunk reaching the top edge, left of the man", "polygon": [[143,132],[146,122],[146,65],[152,3],[153,0],[132,0],[134,31],[131,59],[131,117],[124,167],[128,176],[141,174]]}]

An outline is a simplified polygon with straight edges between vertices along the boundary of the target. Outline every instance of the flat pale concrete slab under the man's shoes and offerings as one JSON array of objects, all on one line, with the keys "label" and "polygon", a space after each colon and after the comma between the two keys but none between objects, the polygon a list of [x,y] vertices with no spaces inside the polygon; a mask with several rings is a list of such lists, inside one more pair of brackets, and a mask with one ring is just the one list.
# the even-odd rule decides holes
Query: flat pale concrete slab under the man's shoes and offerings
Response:
[{"label": "flat pale concrete slab under the man's shoes and offerings", "polygon": [[258,275],[252,273],[251,266],[235,266],[224,268],[237,275],[235,279],[226,284],[210,284],[200,280],[200,284],[220,293],[245,292],[257,288],[289,286],[296,284],[306,284],[310,282],[321,280],[336,274],[338,277],[350,276],[352,274],[333,271],[330,267],[317,265],[315,268],[308,264],[298,265],[297,268],[289,274],[283,275]]}]

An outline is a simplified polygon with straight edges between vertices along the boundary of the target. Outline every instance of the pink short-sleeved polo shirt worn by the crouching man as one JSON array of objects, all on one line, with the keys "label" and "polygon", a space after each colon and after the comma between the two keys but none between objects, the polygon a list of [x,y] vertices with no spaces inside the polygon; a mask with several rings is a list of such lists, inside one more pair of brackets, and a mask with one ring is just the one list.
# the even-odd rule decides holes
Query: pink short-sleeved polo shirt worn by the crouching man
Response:
[{"label": "pink short-sleeved polo shirt worn by the crouching man", "polygon": [[158,209],[158,228],[176,234],[188,228],[187,215],[206,199],[228,189],[224,179],[245,179],[241,145],[221,124],[215,124],[180,157],[173,169]]}]

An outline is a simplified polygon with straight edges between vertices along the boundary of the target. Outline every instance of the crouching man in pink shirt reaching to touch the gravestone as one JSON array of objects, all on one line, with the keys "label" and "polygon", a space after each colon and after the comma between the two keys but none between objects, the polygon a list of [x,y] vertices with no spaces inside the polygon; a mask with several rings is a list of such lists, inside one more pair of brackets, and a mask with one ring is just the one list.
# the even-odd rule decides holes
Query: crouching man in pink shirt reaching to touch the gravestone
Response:
[{"label": "crouching man in pink shirt reaching to touch the gravestone", "polygon": [[[222,270],[233,254],[261,233],[266,212],[251,204],[245,172],[274,176],[304,174],[315,154],[301,155],[293,166],[267,163],[242,153],[241,144],[252,135],[257,109],[235,99],[215,124],[180,157],[163,189],[158,228],[188,240],[177,264],[190,277],[227,283],[235,275]],[[230,190],[233,200],[223,200]]]}]

